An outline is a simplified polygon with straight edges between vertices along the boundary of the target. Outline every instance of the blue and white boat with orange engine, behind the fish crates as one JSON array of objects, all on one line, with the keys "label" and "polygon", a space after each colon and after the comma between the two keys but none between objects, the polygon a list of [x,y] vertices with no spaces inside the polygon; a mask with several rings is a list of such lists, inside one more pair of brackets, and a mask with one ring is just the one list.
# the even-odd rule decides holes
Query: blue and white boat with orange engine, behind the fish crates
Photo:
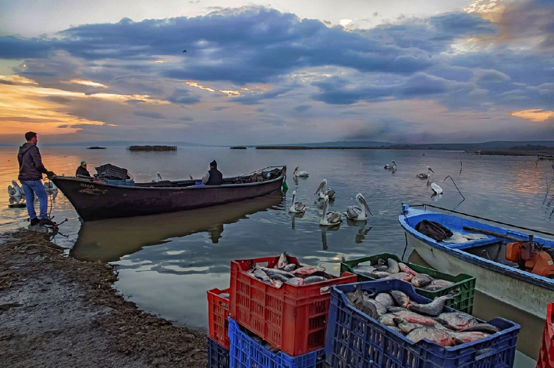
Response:
[{"label": "blue and white boat with orange engine, behind the fish crates", "polygon": [[[531,259],[534,259],[533,257],[538,254],[535,252],[537,249],[540,250],[540,254],[542,252],[552,254],[552,248],[554,248],[552,239],[554,238],[546,239],[532,234],[530,236],[519,230],[491,225],[490,223],[499,223],[494,220],[468,215],[484,220],[481,222],[458,215],[429,211],[427,207],[449,211],[428,204],[424,204],[422,208],[410,208],[403,204],[402,214],[398,216],[398,220],[406,232],[407,245],[416,249],[425,262],[447,274],[473,275],[476,277],[476,290],[535,314],[542,319],[546,317],[546,306],[549,302],[554,301],[554,280],[530,272],[521,260],[514,259],[512,252],[520,249],[517,248],[518,244],[527,244],[539,246],[527,249],[530,250],[527,255],[518,254],[518,256],[522,255],[524,258],[531,256]],[[461,214],[455,211],[450,212]],[[472,240],[464,238],[466,241],[459,243],[446,242],[452,241],[450,239],[454,239],[454,237],[437,241],[416,230],[417,224],[422,220],[439,223],[452,231],[455,236],[462,234],[468,238],[476,238],[475,235],[482,235],[483,238]],[[554,234],[538,230],[514,227],[513,225],[510,227],[525,229],[530,233],[554,236]],[[506,250],[508,250],[508,258],[516,262],[506,259]],[[550,261],[546,267],[553,267],[552,264]],[[532,271],[536,271],[536,269]],[[543,274],[545,273],[543,272]],[[548,275],[553,277],[551,272]]]}]

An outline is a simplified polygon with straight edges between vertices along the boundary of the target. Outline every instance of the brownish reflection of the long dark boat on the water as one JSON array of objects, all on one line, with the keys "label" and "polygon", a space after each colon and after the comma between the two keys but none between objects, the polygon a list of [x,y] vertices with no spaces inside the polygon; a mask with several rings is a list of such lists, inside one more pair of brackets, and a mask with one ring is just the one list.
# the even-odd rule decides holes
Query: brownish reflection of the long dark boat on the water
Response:
[{"label": "brownish reflection of the long dark boat on the water", "polygon": [[82,260],[117,261],[145,246],[202,232],[207,232],[216,244],[223,236],[224,224],[267,211],[282,202],[283,194],[278,191],[247,201],[191,211],[84,222],[69,254]]}]

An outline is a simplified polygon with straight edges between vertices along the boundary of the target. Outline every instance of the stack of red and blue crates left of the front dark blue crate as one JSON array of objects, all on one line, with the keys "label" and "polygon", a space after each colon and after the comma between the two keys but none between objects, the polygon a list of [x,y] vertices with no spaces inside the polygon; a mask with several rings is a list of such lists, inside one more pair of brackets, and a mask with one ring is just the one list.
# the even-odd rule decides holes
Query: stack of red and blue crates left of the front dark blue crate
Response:
[{"label": "stack of red and blue crates left of the front dark blue crate", "polygon": [[[288,259],[300,266],[295,257]],[[345,272],[321,282],[283,283],[278,288],[248,274],[253,262],[272,268],[278,260],[265,257],[231,262],[228,304],[217,297],[225,291],[208,292],[210,338],[227,348],[222,331],[228,328],[229,367],[321,368],[324,364],[330,287],[355,282],[357,277]],[[219,318],[225,312],[217,313],[222,305],[229,306],[227,326]],[[208,366],[223,368],[215,351],[213,355],[209,351]]]}]

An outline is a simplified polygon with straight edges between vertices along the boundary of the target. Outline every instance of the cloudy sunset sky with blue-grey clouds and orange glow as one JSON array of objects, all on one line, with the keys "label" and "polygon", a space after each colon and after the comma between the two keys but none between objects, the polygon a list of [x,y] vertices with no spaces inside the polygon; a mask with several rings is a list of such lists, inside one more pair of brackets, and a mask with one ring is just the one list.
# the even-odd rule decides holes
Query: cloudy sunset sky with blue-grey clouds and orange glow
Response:
[{"label": "cloudy sunset sky with blue-grey clouds and orange glow", "polygon": [[0,143],[29,130],[44,143],[554,140],[554,2],[4,0]]}]

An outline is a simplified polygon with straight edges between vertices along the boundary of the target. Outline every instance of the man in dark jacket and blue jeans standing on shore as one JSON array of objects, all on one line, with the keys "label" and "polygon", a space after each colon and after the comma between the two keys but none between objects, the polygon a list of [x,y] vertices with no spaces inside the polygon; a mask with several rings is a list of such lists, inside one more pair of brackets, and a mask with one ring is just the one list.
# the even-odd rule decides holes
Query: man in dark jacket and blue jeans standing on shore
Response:
[{"label": "man in dark jacket and blue jeans standing on shore", "polygon": [[[48,194],[44,190],[42,183],[42,174],[48,177],[54,176],[54,172],[46,170],[42,164],[42,157],[38,150],[38,135],[35,132],[25,133],[27,143],[19,147],[17,161],[19,162],[19,182],[25,191],[25,202],[27,202],[27,213],[31,225],[54,225],[46,214],[48,209]],[[37,194],[39,199],[40,213],[34,209],[34,196]]]}]

